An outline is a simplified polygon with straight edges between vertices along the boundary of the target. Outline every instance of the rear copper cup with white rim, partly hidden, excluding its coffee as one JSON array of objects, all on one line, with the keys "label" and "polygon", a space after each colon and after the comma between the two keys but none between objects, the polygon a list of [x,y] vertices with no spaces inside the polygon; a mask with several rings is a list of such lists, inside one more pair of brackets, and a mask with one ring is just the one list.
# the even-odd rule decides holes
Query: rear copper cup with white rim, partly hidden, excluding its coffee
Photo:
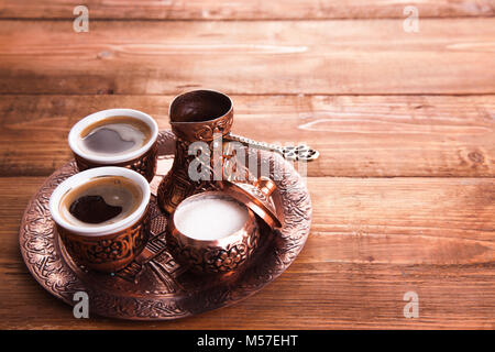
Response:
[{"label": "rear copper cup with white rim, partly hidden, excluding its coffee", "polygon": [[[113,117],[129,117],[144,122],[151,131],[150,140],[139,150],[111,156],[82,151],[78,143],[81,132],[94,123]],[[158,125],[148,114],[132,109],[109,109],[91,113],[77,122],[70,130],[68,142],[79,170],[101,166],[120,166],[133,169],[143,175],[147,182],[151,182],[156,172],[156,161],[158,156],[157,138]]]}]

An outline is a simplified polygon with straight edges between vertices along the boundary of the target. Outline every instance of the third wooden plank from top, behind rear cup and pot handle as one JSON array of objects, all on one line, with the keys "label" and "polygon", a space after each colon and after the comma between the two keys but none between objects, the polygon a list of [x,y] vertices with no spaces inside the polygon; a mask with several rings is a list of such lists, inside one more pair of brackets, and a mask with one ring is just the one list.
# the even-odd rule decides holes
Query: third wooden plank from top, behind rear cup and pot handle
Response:
[{"label": "third wooden plank from top, behind rear cup and pot handle", "polygon": [[[70,127],[133,108],[168,129],[172,96],[2,96],[0,175],[46,176],[68,161]],[[306,142],[309,176],[495,176],[495,96],[232,96],[233,132]]]}]

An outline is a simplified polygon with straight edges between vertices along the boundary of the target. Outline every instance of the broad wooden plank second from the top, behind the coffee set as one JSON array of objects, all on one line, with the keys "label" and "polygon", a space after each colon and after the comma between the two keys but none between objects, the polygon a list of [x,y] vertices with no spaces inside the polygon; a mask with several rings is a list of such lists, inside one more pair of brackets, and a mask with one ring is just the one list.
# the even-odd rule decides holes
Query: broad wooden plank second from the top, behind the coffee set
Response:
[{"label": "broad wooden plank second from the top, behind the coffee set", "polygon": [[493,37],[493,18],[1,21],[0,94],[495,94]]}]

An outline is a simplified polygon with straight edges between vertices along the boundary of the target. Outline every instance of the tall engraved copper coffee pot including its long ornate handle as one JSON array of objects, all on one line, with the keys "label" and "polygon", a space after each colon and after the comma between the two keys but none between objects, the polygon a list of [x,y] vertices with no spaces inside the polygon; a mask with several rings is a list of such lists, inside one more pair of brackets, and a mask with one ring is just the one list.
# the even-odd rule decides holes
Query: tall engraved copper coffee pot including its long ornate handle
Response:
[{"label": "tall engraved copper coffee pot including its long ornate handle", "polygon": [[[319,155],[306,145],[282,147],[230,133],[233,122],[232,100],[215,90],[194,90],[177,96],[170,103],[168,116],[176,136],[175,157],[157,193],[158,205],[167,213],[172,213],[185,198],[218,187],[218,183],[213,180],[223,179],[224,161],[229,158],[229,155],[223,153],[223,143],[238,142],[250,147],[271,150],[292,161],[309,162]],[[222,145],[219,145],[219,140]],[[189,146],[194,142],[204,142],[207,145],[207,151],[202,153],[210,157],[201,167],[208,170],[208,179],[194,180],[189,177],[191,162],[198,161],[197,155],[189,155]],[[197,163],[193,166],[196,165]]]}]

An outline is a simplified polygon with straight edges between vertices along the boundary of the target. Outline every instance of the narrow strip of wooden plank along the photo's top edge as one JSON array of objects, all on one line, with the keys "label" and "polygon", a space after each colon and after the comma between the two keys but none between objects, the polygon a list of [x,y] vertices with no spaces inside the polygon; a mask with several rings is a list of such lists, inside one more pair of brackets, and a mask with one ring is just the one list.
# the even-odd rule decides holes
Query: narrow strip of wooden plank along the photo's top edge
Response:
[{"label": "narrow strip of wooden plank along the photo's top edge", "polygon": [[[2,0],[0,18],[74,19],[77,0]],[[463,0],[87,0],[91,19],[120,20],[279,20],[279,19],[381,19],[403,18],[404,8],[414,6],[421,18],[494,15],[492,1]]]}]

